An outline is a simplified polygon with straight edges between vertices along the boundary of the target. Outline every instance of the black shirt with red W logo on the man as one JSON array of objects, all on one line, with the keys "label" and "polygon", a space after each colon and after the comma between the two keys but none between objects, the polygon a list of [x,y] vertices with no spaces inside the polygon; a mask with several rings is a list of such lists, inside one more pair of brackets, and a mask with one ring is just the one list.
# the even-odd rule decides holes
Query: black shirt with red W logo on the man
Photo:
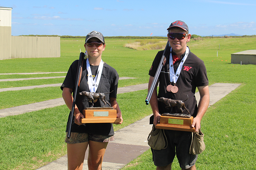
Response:
[{"label": "black shirt with red W logo on the man", "polygon": [[[156,70],[159,66],[159,62],[162,58],[163,51],[159,51],[152,63],[152,66],[149,71],[149,75],[154,77]],[[181,56],[183,57],[184,54]],[[168,92],[166,87],[170,84],[170,68],[169,68],[169,59],[170,59],[170,48],[168,48],[168,52],[166,52],[166,63],[163,66],[161,73],[159,75],[159,92],[157,97],[165,97],[171,98],[175,100],[186,100],[188,95],[188,100],[186,100],[185,106],[188,108],[190,115],[196,117],[197,114],[197,102],[196,97],[194,96],[196,87],[198,86],[207,86],[208,78],[207,72],[205,68],[205,64],[201,59],[199,59],[192,52],[188,53],[188,57],[183,64],[183,68],[181,69],[181,73],[176,82],[176,86],[179,88],[177,93]],[[176,72],[177,67],[182,59],[176,61],[174,63],[174,72]],[[165,103],[158,102],[159,112],[170,113],[170,108],[165,108]],[[172,108],[172,113],[181,113],[179,109],[176,107]],[[184,110],[185,114],[188,114],[186,110]]]}]

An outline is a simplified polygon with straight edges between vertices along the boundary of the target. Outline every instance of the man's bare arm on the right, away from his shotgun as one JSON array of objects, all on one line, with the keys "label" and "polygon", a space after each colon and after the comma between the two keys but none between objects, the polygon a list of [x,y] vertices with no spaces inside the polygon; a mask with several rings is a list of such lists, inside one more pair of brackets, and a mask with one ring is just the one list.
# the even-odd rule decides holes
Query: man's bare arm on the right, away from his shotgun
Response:
[{"label": "man's bare arm on the right, away from his shotgun", "polygon": [[195,131],[198,132],[198,129],[201,128],[201,120],[203,118],[203,115],[207,111],[207,108],[209,106],[210,102],[210,94],[209,94],[209,87],[208,86],[199,86],[197,87],[199,94],[200,94],[200,100],[198,103],[198,109],[197,109],[197,115],[193,119],[192,127],[195,127]]}]

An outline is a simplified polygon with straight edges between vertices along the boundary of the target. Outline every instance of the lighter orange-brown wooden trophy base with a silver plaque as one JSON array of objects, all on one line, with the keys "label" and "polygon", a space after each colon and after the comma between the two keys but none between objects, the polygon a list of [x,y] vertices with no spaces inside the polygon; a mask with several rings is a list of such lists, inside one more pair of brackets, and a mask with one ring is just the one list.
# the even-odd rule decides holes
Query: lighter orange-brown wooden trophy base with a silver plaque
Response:
[{"label": "lighter orange-brown wooden trophy base with a silver plaque", "polygon": [[88,107],[83,110],[85,118],[81,123],[118,123],[121,118],[117,118],[117,110],[113,107]]}]

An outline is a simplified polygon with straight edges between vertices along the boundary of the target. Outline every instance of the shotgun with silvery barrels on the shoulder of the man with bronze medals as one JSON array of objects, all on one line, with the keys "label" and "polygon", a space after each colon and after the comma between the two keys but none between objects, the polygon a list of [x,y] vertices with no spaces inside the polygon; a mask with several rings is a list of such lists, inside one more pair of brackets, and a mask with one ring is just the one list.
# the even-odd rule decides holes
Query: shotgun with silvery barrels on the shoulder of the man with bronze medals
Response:
[{"label": "shotgun with silvery barrels on the shoulder of the man with bronze medals", "polygon": [[155,89],[155,85],[156,85],[157,79],[158,79],[158,77],[159,77],[159,75],[160,75],[160,72],[161,72],[163,66],[165,65],[164,59],[165,59],[165,53],[166,53],[166,50],[167,50],[168,47],[169,47],[169,41],[167,41],[167,44],[166,44],[166,46],[165,46],[165,50],[164,50],[164,52],[163,52],[162,58],[161,58],[161,60],[160,60],[160,63],[159,63],[159,65],[158,65],[158,68],[157,68],[157,70],[156,70],[156,72],[155,72],[155,77],[154,77],[154,79],[153,79],[153,81],[152,81],[152,84],[151,84],[149,90],[148,90],[148,95],[147,95],[146,100],[145,100],[146,105],[149,104],[149,101],[150,101],[150,98],[151,98],[151,96],[152,96],[153,90]]}]

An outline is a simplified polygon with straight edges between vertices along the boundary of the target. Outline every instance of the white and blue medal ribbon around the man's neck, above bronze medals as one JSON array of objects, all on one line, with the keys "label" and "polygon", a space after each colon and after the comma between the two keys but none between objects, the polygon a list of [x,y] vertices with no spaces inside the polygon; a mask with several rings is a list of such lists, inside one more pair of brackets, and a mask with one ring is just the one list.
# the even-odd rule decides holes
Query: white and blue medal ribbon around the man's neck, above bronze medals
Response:
[{"label": "white and blue medal ribbon around the man's neck, above bronze medals", "polygon": [[186,53],[185,56],[183,57],[183,59],[181,60],[181,63],[179,63],[179,66],[176,70],[176,73],[174,73],[174,66],[173,66],[173,61],[172,61],[172,48],[171,48],[171,52],[170,52],[170,82],[174,82],[174,84],[176,84],[179,75],[181,73],[181,68],[183,66],[183,63],[185,63],[187,57],[188,57],[188,52],[189,52],[189,48],[186,48]]}]

